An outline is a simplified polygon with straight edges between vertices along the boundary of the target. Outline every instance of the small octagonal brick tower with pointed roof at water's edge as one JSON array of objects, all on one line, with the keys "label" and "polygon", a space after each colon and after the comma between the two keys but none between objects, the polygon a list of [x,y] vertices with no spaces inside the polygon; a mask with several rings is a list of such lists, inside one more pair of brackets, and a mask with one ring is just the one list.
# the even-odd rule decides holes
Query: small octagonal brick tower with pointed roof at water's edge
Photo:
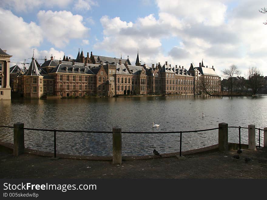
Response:
[{"label": "small octagonal brick tower with pointed roof at water's edge", "polygon": [[34,56],[28,71],[23,75],[23,95],[28,99],[40,99],[43,96],[43,76],[40,74]]}]

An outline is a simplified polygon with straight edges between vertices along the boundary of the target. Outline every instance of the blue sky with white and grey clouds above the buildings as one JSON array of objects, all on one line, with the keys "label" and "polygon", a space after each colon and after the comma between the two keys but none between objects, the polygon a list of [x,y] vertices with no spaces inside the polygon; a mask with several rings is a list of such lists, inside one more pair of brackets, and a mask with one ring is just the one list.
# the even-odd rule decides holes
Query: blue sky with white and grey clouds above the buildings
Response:
[{"label": "blue sky with white and grey clouds above the buildings", "polygon": [[236,65],[267,76],[266,0],[1,0],[0,47],[10,66],[35,58],[94,55],[141,64],[202,61],[215,72]]}]

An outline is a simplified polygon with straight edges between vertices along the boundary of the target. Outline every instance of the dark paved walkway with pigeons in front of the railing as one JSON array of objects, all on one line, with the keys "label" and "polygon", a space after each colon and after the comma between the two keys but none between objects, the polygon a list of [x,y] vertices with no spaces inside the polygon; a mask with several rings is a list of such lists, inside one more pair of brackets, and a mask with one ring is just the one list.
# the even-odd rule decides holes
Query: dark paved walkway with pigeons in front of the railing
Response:
[{"label": "dark paved walkway with pigeons in front of the railing", "polygon": [[[74,159],[51,160],[50,157],[22,154],[18,157],[0,153],[0,178],[267,178],[267,149],[236,150],[186,156],[184,160],[155,158],[127,160],[121,165],[110,161]],[[245,162],[246,157],[252,160]]]}]

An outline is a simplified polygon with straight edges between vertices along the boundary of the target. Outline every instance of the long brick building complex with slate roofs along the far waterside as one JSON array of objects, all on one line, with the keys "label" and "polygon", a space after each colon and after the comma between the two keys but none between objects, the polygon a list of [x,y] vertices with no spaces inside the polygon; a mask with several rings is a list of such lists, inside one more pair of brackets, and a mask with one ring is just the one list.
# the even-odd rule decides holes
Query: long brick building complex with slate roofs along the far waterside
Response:
[{"label": "long brick building complex with slate roofs along the far waterside", "polygon": [[[203,66],[194,68],[191,64],[190,69],[186,70],[184,66],[172,67],[167,61],[163,66],[160,62],[152,64],[151,68],[141,65],[138,52],[135,65],[131,65],[129,56],[127,59],[110,58],[91,52],[90,57],[87,53],[85,58],[82,50],[76,59],[64,55],[63,60],[54,60],[51,56],[39,68],[37,66],[33,57],[29,70],[14,79],[14,90],[23,93],[25,98],[40,98],[42,95],[194,95],[201,91],[201,77],[205,78],[210,92],[215,91],[215,86],[218,87],[216,80],[219,80],[214,69],[203,69]],[[33,83],[34,78],[36,83]]]}]

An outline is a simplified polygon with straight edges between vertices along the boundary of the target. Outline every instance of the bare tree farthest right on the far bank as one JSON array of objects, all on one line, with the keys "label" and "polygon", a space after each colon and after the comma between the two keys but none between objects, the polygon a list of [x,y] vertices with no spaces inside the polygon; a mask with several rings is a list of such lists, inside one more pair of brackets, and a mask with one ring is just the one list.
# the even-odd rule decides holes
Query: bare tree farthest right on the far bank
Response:
[{"label": "bare tree farthest right on the far bank", "polygon": [[255,95],[263,86],[263,78],[257,67],[248,69],[248,87],[252,90],[252,95]]}]

